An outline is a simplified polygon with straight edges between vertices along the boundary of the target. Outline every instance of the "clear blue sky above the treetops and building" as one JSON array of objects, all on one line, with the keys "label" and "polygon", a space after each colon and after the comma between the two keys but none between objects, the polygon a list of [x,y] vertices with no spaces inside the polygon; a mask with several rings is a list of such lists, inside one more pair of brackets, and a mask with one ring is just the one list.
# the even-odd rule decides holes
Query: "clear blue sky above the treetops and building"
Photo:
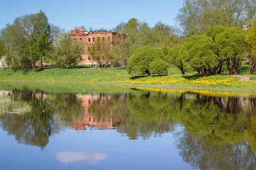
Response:
[{"label": "clear blue sky above the treetops and building", "polygon": [[12,0],[0,6],[0,28],[24,14],[45,11],[49,22],[66,30],[86,28],[110,29],[120,21],[135,17],[154,26],[159,20],[175,25],[174,20],[183,0]]}]

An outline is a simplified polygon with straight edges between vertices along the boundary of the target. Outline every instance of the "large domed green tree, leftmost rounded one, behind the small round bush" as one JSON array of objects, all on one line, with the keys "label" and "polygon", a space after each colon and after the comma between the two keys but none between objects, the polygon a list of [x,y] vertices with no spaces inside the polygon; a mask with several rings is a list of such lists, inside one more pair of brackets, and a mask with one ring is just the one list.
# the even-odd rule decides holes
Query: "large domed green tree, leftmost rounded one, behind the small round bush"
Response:
[{"label": "large domed green tree, leftmost rounded one, behind the small round bush", "polygon": [[163,53],[158,48],[153,48],[150,46],[143,46],[134,51],[134,53],[128,59],[128,65],[126,70],[129,74],[148,74],[151,75],[149,71],[149,65],[152,61],[157,59],[162,59]]}]

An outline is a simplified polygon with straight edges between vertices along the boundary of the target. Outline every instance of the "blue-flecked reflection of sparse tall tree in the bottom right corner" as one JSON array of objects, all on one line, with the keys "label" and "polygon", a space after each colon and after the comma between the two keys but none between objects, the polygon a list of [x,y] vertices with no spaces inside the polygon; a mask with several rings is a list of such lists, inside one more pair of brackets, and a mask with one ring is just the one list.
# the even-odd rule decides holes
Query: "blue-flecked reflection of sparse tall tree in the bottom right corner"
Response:
[{"label": "blue-flecked reflection of sparse tall tree in the bottom right corner", "polygon": [[201,170],[255,170],[256,157],[247,142],[212,144],[205,136],[192,136],[185,129],[175,133],[183,161]]}]

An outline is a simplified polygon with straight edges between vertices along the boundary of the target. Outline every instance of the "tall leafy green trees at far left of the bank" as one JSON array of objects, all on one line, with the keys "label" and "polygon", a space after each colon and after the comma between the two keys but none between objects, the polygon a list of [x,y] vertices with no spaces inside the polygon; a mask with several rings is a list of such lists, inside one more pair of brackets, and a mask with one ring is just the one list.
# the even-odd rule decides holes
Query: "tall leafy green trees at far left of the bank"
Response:
[{"label": "tall leafy green trees at far left of the bank", "polygon": [[6,64],[14,70],[35,69],[35,62],[49,56],[50,36],[50,25],[43,11],[15,18],[13,24],[6,24],[1,30]]}]

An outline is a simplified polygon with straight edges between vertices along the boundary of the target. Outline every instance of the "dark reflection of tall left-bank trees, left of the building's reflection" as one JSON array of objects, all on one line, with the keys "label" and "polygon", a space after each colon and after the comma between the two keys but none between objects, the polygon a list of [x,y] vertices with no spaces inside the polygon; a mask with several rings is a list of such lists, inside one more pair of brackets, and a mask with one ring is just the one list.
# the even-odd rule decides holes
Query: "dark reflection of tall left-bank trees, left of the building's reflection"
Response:
[{"label": "dark reflection of tall left-bank trees, left of the building's reflection", "polygon": [[[44,98],[44,95],[47,97]],[[42,150],[49,143],[49,136],[59,133],[64,128],[63,124],[70,122],[70,117],[78,116],[77,114],[83,111],[75,95],[49,95],[14,90],[12,98],[28,102],[32,111],[24,115],[2,116],[1,127],[9,135],[14,135],[17,142],[38,146]]]}]

